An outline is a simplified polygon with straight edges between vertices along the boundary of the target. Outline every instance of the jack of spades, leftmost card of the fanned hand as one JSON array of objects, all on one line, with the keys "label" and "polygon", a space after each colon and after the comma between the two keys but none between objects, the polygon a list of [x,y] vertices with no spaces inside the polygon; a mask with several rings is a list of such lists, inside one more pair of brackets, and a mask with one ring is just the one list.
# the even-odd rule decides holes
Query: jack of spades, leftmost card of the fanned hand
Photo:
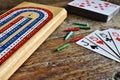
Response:
[{"label": "jack of spades, leftmost card of the fanned hand", "polygon": [[109,51],[102,49],[101,47],[97,46],[96,44],[94,44],[93,42],[91,42],[90,40],[88,40],[87,38],[83,38],[79,41],[76,42],[78,45],[81,45],[87,49],[90,49],[94,52],[97,52],[103,56],[106,56],[108,58],[111,58],[115,61],[120,62],[119,58],[113,57],[114,55],[112,55],[111,53],[109,53]]}]

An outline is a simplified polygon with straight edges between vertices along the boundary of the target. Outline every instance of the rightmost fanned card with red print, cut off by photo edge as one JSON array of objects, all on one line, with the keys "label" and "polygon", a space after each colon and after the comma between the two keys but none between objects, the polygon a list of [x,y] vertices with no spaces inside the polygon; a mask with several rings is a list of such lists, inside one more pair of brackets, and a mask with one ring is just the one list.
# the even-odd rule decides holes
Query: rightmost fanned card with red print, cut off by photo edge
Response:
[{"label": "rightmost fanned card with red print, cut off by photo edge", "polygon": [[112,37],[115,46],[117,47],[118,51],[120,52],[120,30],[110,29],[108,31],[108,33]]}]

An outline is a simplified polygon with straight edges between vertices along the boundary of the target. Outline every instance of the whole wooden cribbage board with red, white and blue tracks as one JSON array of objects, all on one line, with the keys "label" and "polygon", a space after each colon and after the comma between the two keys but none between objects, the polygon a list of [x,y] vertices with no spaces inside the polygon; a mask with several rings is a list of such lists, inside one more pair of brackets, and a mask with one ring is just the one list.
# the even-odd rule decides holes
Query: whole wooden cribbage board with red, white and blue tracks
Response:
[{"label": "whole wooden cribbage board with red, white and blue tracks", "polygon": [[63,8],[23,2],[0,16],[0,80],[8,79],[63,22]]}]

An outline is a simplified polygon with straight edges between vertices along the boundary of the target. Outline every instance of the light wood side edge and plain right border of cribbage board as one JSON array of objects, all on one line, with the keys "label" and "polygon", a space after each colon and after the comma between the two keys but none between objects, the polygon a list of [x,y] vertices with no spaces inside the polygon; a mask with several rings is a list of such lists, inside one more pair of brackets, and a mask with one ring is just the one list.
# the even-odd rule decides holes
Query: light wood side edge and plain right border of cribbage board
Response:
[{"label": "light wood side edge and plain right border of cribbage board", "polygon": [[[24,3],[28,3],[28,2],[24,2]],[[53,14],[53,18],[39,32],[37,32],[29,41],[27,41],[6,62],[0,65],[0,80],[9,79],[10,76],[43,43],[43,41],[63,22],[63,20],[67,17],[67,11],[64,8],[58,8],[58,9],[59,9],[58,15]],[[36,40],[34,40],[35,38]],[[31,43],[31,41],[33,43]],[[35,45],[33,46],[33,44]]]}]

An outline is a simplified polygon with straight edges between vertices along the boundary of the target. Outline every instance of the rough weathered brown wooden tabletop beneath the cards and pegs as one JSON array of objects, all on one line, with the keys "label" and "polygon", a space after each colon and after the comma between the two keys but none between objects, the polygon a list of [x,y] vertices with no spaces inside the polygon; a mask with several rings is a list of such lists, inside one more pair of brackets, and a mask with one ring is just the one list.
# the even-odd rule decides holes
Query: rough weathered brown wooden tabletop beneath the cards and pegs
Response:
[{"label": "rough weathered brown wooden tabletop beneath the cards and pegs", "polygon": [[[0,0],[0,14],[18,5],[23,0]],[[26,0],[35,3],[65,7],[72,0]],[[93,21],[68,13],[67,19],[33,53],[33,55],[11,76],[9,80],[112,80],[120,79],[120,64],[93,51],[72,43],[68,48],[55,49],[68,41],[64,40],[64,29],[75,27],[73,22],[87,22],[90,30],[74,32],[74,36],[87,35],[97,29],[120,29],[120,13],[107,23]],[[6,73],[7,74],[7,73]],[[115,76],[115,74],[117,74]],[[119,80],[118,79],[118,80]]]}]

